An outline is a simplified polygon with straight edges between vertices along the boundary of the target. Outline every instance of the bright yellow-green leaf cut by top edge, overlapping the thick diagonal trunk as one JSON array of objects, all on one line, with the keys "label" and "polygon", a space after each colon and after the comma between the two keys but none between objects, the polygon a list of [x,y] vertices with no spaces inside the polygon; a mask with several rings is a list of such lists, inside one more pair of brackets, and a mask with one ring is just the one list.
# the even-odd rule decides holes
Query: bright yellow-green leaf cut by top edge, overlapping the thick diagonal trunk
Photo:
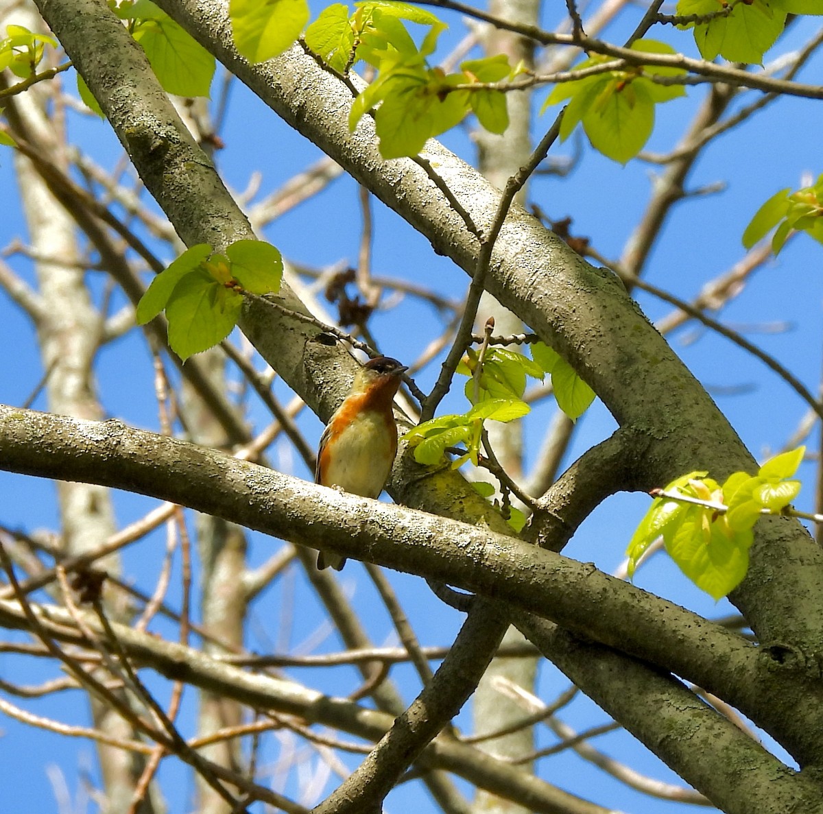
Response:
[{"label": "bright yellow-green leaf cut by top edge, overlapping the thick diagonal trunk", "polygon": [[230,0],[229,16],[237,50],[250,63],[285,51],[309,21],[306,0]]}]

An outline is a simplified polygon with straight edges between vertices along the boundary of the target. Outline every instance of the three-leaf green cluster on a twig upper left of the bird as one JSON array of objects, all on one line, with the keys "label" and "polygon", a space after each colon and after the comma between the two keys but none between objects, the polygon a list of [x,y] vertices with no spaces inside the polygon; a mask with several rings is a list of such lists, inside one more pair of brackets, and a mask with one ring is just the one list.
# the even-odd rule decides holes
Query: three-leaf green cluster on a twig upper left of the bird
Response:
[{"label": "three-leaf green cluster on a twig upper left of the bird", "polygon": [[169,345],[188,359],[229,335],[244,291],[276,292],[282,273],[280,252],[262,240],[238,240],[226,254],[204,243],[192,246],[151,281],[137,305],[137,323],[145,325],[165,309]]}]

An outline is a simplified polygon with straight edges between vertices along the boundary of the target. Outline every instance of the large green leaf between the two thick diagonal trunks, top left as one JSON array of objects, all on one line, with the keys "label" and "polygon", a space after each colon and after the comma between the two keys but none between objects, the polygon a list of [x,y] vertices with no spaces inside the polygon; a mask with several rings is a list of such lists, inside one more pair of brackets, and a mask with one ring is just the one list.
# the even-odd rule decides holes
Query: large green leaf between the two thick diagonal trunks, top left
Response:
[{"label": "large green leaf between the two thick diagonal trunks, top left", "polygon": [[134,39],[141,44],[160,85],[180,96],[208,96],[215,59],[165,12],[148,0],[133,7]]}]

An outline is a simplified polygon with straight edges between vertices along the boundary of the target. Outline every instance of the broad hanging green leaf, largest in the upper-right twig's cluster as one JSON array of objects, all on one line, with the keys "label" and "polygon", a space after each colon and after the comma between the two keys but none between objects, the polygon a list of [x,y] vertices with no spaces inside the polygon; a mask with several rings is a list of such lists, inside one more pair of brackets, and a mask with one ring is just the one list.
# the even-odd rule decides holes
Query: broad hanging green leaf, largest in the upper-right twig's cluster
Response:
[{"label": "broad hanging green leaf, largest in the upper-right twig's cluster", "polygon": [[654,102],[639,82],[611,81],[583,116],[592,146],[621,164],[634,158],[654,127]]}]

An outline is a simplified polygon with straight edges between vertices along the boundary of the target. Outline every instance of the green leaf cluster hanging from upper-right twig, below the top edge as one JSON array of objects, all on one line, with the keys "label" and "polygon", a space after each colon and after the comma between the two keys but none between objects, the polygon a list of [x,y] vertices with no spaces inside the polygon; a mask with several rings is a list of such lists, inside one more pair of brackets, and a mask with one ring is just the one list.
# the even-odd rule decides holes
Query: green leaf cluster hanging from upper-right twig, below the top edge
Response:
[{"label": "green leaf cluster hanging from upper-right twig, below the top edge", "polygon": [[[633,51],[642,53],[676,53],[671,46],[656,40],[637,40]],[[586,70],[611,62],[597,54],[575,67]],[[557,105],[568,100],[560,123],[560,139],[574,131],[578,123],[592,147],[621,164],[634,158],[649,141],[654,127],[654,105],[686,95],[681,85],[663,85],[654,77],[683,76],[678,67],[645,65],[594,73],[583,79],[562,82],[549,94],[543,105]]]}]

